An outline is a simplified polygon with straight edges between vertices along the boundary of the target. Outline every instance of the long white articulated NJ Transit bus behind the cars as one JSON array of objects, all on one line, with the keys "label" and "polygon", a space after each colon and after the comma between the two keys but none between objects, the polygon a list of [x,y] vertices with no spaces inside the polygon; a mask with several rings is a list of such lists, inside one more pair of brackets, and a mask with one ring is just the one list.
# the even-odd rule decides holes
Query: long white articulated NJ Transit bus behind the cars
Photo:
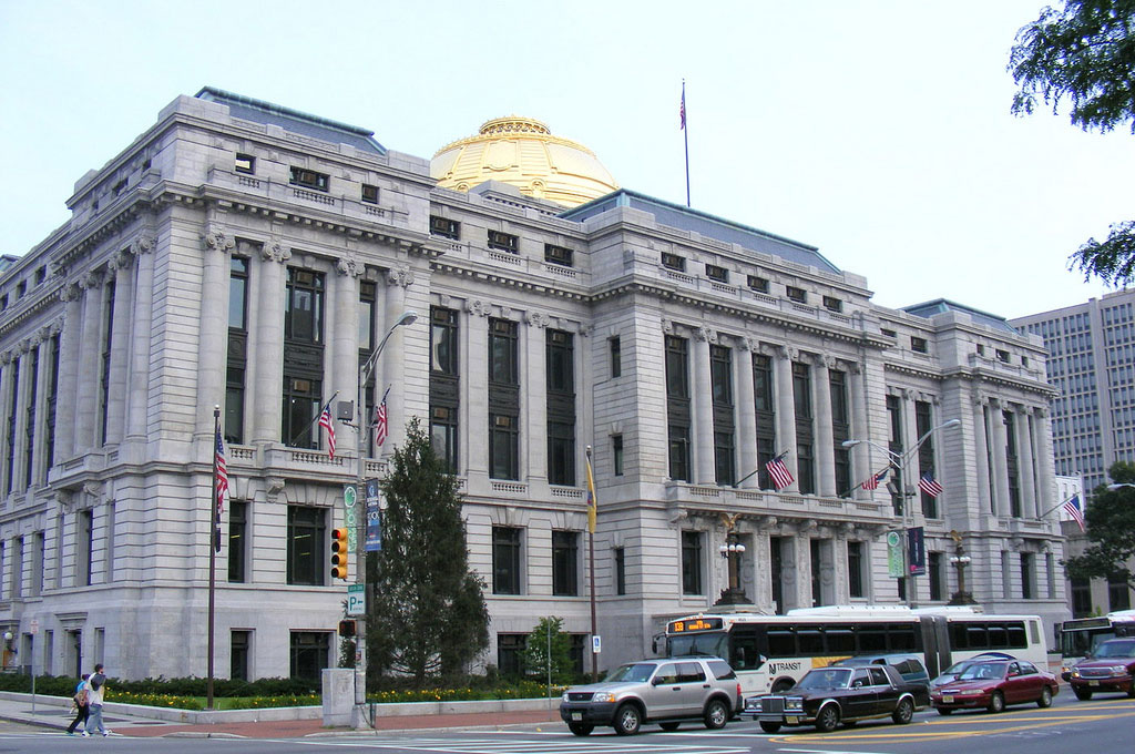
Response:
[{"label": "long white articulated NJ Transit bus behind the cars", "polygon": [[987,615],[969,608],[835,605],[787,615],[699,613],[666,623],[670,656],[707,654],[733,667],[742,695],[782,692],[813,668],[867,654],[917,654],[930,677],[982,652],[1048,667],[1037,615]]}]

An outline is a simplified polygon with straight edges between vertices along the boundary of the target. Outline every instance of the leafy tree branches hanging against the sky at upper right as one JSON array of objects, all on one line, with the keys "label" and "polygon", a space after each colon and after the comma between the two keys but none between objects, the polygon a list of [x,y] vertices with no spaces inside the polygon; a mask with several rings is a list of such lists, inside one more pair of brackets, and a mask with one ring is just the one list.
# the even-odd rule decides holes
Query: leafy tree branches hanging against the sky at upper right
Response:
[{"label": "leafy tree branches hanging against the sky at upper right", "polygon": [[[1065,0],[1044,8],[1017,33],[1009,72],[1019,86],[1015,115],[1031,115],[1037,98],[1070,107],[1071,123],[1108,132],[1129,122],[1135,133],[1135,0]],[[1084,279],[1116,287],[1135,279],[1135,221],[1111,226],[1103,241],[1088,238],[1069,257]]]}]

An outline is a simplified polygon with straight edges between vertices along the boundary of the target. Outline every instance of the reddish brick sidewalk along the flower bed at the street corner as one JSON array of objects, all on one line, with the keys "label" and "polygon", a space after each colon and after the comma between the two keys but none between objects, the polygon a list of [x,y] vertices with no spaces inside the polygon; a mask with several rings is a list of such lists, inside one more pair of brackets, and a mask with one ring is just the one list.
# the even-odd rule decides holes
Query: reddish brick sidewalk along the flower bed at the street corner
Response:
[{"label": "reddish brick sidewalk along the flower bed at the street corner", "polygon": [[[10,720],[24,724],[53,728],[66,731],[74,715],[61,706],[62,699],[36,697],[35,710],[32,710],[31,694],[8,694],[15,698],[0,698],[0,720]],[[322,721],[314,720],[264,720],[259,722],[218,722],[204,724],[184,724],[145,718],[134,713],[119,712],[126,705],[108,705],[103,712],[103,722],[116,736],[131,737],[228,737],[228,738],[302,738],[304,736],[343,736],[356,732],[350,728],[323,728]],[[558,704],[552,710],[520,710],[512,712],[465,712],[447,714],[417,715],[382,715],[382,706],[376,705],[377,719],[375,730],[430,730],[439,728],[504,728],[518,724],[553,723],[560,721]]]}]

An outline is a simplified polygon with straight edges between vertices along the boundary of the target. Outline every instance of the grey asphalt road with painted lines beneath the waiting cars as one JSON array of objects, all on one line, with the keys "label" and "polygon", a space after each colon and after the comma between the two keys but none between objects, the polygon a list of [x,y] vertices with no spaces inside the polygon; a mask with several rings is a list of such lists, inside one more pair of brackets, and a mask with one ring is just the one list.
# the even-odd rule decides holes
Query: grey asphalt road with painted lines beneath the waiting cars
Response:
[{"label": "grey asphalt road with painted lines beneath the waiting cars", "polygon": [[519,726],[508,730],[436,730],[379,736],[319,736],[303,739],[222,738],[68,738],[26,726],[0,724],[0,754],[30,752],[102,752],[138,754],[1111,754],[1135,751],[1135,701],[1096,696],[1077,702],[1061,694],[1048,710],[1010,707],[1002,714],[958,712],[948,718],[920,712],[909,726],[889,720],[838,728],[831,734],[812,729],[760,731],[751,720],[708,731],[683,724],[674,732],[655,726],[621,737],[596,730],[572,736],[558,723]]}]

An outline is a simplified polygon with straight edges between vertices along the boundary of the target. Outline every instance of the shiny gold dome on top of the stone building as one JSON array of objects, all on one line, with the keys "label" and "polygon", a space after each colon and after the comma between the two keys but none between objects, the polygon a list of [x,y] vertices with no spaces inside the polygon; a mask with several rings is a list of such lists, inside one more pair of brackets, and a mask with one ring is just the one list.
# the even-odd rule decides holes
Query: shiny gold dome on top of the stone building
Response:
[{"label": "shiny gold dome on top of the stone building", "polygon": [[619,188],[595,152],[568,139],[553,136],[539,120],[494,118],[476,136],[439,149],[430,175],[445,188],[469,191],[486,181],[499,181],[522,194],[578,207]]}]

